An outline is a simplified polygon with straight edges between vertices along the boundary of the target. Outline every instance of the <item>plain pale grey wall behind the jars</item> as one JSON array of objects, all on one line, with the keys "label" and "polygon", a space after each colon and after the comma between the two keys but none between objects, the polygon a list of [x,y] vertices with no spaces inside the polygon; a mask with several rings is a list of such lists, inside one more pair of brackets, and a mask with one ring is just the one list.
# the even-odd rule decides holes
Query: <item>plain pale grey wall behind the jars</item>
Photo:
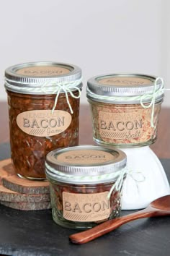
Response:
[{"label": "plain pale grey wall behind the jars", "polygon": [[1,1],[0,101],[4,69],[27,61],[76,64],[84,89],[89,77],[108,72],[155,74],[170,88],[169,12],[169,0]]}]

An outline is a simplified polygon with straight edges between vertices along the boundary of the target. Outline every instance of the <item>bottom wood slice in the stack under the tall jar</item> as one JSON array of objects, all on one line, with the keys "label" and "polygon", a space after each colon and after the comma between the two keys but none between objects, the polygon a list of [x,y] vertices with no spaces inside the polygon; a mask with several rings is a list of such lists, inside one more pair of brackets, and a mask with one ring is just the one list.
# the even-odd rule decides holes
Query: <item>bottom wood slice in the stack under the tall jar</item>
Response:
[{"label": "bottom wood slice in the stack under the tall jar", "polygon": [[1,205],[17,210],[45,210],[50,209],[50,202],[5,202],[0,201]]}]

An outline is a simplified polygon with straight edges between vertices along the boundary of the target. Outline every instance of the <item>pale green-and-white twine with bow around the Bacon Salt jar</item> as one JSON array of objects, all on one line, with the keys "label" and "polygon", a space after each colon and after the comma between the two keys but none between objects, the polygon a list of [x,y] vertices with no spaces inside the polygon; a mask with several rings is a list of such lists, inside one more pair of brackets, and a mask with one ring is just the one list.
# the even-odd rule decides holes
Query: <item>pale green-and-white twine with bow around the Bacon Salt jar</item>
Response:
[{"label": "pale green-and-white twine with bow around the Bacon Salt jar", "polygon": [[[158,90],[156,90],[156,86],[158,85],[158,82],[160,82],[161,80],[161,86],[160,88],[158,88]],[[154,86],[153,86],[153,92],[152,93],[146,93],[143,95],[136,95],[136,96],[107,96],[107,95],[97,95],[95,93],[92,93],[91,90],[89,90],[89,88],[87,88],[87,93],[89,93],[89,95],[92,96],[92,98],[96,98],[96,99],[101,99],[101,100],[109,100],[109,101],[113,101],[113,102],[119,102],[120,101],[127,101],[127,102],[135,102],[135,101],[139,101],[140,105],[143,108],[152,108],[151,110],[151,127],[155,127],[153,124],[153,116],[154,116],[154,109],[155,109],[155,103],[156,103],[156,98],[158,98],[158,96],[161,96],[165,90],[170,90],[170,89],[165,89],[164,88],[164,80],[161,77],[157,77],[155,82],[154,82]],[[144,104],[145,101],[151,101],[151,103],[147,103],[146,105]]]}]

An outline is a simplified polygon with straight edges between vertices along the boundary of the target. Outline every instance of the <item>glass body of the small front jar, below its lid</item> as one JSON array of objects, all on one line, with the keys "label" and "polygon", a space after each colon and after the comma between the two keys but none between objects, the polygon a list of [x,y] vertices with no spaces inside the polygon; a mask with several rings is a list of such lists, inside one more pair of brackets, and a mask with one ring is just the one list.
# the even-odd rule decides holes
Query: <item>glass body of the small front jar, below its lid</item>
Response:
[{"label": "glass body of the small front jar, below its lid", "polygon": [[[97,226],[99,223],[120,216],[120,192],[113,190],[108,202],[101,197],[102,192],[107,194],[112,185],[113,183],[89,185],[63,184],[50,180],[50,198],[54,221],[68,228],[89,229]],[[65,198],[63,193],[66,193]],[[71,193],[71,197],[69,197],[69,193]],[[82,199],[84,200],[83,203],[81,202],[81,195],[86,195],[85,199]],[[89,200],[89,195],[91,200]],[[75,200],[71,200],[73,197],[75,197]],[[104,218],[104,211],[108,213],[108,207],[109,215],[107,215],[107,218]],[[65,214],[66,212],[68,215]],[[74,220],[75,215],[76,221]],[[72,220],[68,220],[64,216],[68,216]],[[95,218],[98,221],[93,221]]]}]

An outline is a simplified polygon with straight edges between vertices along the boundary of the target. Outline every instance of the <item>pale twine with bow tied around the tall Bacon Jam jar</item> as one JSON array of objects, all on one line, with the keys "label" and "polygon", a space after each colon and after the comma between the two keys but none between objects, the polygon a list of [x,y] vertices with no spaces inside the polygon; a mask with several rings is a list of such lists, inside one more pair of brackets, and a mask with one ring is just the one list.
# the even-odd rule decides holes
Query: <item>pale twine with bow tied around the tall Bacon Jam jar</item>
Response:
[{"label": "pale twine with bow tied around the tall Bacon Jam jar", "polygon": [[[55,107],[57,106],[58,103],[58,97],[60,95],[60,93],[65,93],[66,94],[66,101],[68,103],[68,106],[70,108],[71,114],[73,114],[73,108],[71,107],[71,103],[69,101],[68,98],[68,93],[70,93],[71,97],[73,98],[80,98],[81,96],[81,89],[79,88],[79,85],[82,82],[82,78],[79,80],[75,80],[75,81],[63,81],[63,82],[54,82],[53,80],[51,82],[40,82],[38,83],[38,85],[40,85],[39,87],[35,86],[35,87],[18,87],[15,85],[11,85],[9,84],[10,80],[6,80],[6,84],[8,85],[8,88],[12,88],[13,90],[19,90],[19,92],[27,92],[28,94],[30,92],[34,92],[34,93],[45,93],[45,94],[56,94],[55,96],[55,102],[54,102],[54,106],[52,109],[52,112],[55,110]],[[13,82],[13,81],[11,81]],[[22,82],[17,82],[22,84]],[[35,84],[37,85],[37,84]],[[73,94],[73,90],[78,90],[78,95],[74,95]],[[31,93],[32,94],[32,93]]]}]

